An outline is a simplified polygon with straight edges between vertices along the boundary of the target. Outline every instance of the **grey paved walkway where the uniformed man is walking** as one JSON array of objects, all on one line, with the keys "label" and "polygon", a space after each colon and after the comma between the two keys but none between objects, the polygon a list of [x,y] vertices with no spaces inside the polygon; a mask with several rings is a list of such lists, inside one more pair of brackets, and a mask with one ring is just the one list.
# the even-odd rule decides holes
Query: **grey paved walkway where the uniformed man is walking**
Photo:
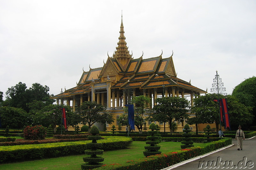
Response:
[{"label": "grey paved walkway where the uniformed man is walking", "polygon": [[[246,139],[243,141],[243,151],[237,150],[237,141],[236,140],[232,140],[232,143],[234,144],[233,146],[228,147],[224,150],[215,152],[215,153],[208,155],[204,158],[200,158],[200,159],[194,160],[192,162],[188,162],[188,163],[178,166],[178,167],[170,167],[170,168],[168,168],[168,170],[169,169],[173,169],[173,170],[226,169],[226,168],[229,169],[232,166],[234,166],[232,169],[234,169],[234,168],[236,168],[236,169],[240,169],[240,168],[241,169],[256,169],[256,137],[254,137],[252,139]],[[201,161],[201,162],[199,162],[199,161]],[[206,161],[206,162],[202,162],[202,161]],[[216,164],[217,167],[214,167],[214,164],[211,167],[211,165],[208,163],[208,161],[217,162],[217,164]],[[221,161],[223,161],[223,162],[221,162]],[[225,161],[232,161],[233,164],[228,166],[227,162],[226,162],[226,164],[224,164]],[[203,165],[203,163],[204,163],[204,165]],[[223,165],[225,165],[225,167],[223,167],[221,165],[221,163],[223,163]],[[247,165],[246,165],[246,163],[247,163]],[[206,166],[206,164],[207,164],[207,166]],[[218,166],[219,166],[219,168],[218,168]],[[167,168],[166,168],[166,170],[167,170]]]}]

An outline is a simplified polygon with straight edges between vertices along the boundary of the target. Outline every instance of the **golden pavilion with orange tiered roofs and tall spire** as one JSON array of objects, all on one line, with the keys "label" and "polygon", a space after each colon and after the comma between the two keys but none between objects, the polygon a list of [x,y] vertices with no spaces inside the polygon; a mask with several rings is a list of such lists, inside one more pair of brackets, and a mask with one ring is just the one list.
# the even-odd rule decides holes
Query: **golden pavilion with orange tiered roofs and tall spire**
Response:
[{"label": "golden pavilion with orange tiered roofs and tall spire", "polygon": [[[121,19],[119,42],[113,56],[108,56],[106,63],[100,68],[90,68],[84,71],[76,87],[68,89],[53,99],[57,104],[64,101],[70,106],[72,101],[73,110],[84,101],[96,101],[106,107],[109,113],[114,114],[116,119],[124,114],[124,104],[127,104],[128,95],[131,96],[150,96],[152,103],[157,97],[162,96],[190,96],[191,105],[193,98],[206,91],[191,85],[190,81],[184,81],[177,77],[172,56],[162,58],[162,54],[157,57],[143,59],[142,56],[134,59],[129,53],[124,36],[123,19]],[[89,66],[90,67],[90,66]],[[127,93],[127,90],[131,93]],[[152,109],[148,104],[148,108]],[[193,115],[190,115],[193,116]],[[115,120],[114,125],[118,125]],[[149,123],[150,124],[150,123]],[[149,126],[148,124],[148,126]],[[158,123],[160,128],[163,123]],[[181,131],[185,122],[178,122],[178,131]],[[110,130],[112,125],[107,125]],[[191,129],[195,126],[191,126]],[[101,129],[101,128],[100,128]],[[169,131],[169,128],[166,128]],[[136,129],[136,131],[138,131]],[[163,131],[163,128],[161,128]]]}]

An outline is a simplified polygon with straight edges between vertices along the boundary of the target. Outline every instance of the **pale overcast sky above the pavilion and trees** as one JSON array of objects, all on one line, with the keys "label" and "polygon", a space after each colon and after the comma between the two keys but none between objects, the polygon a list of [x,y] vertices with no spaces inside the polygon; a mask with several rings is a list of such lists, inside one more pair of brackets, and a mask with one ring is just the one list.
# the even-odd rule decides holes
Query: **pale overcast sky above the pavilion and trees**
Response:
[{"label": "pale overcast sky above the pavilion and trees", "polygon": [[38,82],[57,95],[116,50],[121,13],[133,57],[170,57],[178,77],[227,93],[256,73],[255,0],[0,0],[0,91]]}]

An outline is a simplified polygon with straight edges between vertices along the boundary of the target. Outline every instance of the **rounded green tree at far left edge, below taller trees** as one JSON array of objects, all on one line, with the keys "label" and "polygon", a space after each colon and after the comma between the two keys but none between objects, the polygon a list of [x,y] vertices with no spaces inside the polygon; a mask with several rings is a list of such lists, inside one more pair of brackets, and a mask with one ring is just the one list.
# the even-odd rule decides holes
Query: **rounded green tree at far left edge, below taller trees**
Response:
[{"label": "rounded green tree at far left edge, below taller trees", "polygon": [[2,126],[6,127],[9,125],[11,129],[22,129],[24,125],[31,123],[29,114],[21,108],[0,107],[0,116]]}]

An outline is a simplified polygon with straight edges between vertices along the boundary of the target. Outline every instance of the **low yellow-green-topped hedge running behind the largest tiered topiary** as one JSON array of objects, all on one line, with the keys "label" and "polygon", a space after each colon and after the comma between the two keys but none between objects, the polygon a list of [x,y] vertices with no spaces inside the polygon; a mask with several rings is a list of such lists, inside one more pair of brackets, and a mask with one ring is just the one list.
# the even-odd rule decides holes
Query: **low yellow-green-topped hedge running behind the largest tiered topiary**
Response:
[{"label": "low yellow-green-topped hedge running behind the largest tiered topiary", "polygon": [[[87,144],[90,142],[87,140],[37,145],[0,146],[0,163],[82,154],[84,150],[89,149]],[[102,149],[104,150],[115,150],[128,147],[132,143],[132,139],[128,137],[105,137],[105,139],[98,140],[98,143],[102,143]]]}]

